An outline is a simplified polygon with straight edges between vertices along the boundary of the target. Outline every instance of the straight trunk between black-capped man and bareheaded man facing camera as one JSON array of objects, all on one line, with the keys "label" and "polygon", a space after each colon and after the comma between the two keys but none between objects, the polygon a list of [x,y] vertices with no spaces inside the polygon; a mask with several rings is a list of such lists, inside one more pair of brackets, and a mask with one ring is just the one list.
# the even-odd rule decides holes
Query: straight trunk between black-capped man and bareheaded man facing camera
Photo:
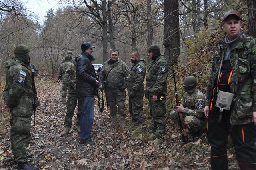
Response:
[{"label": "straight trunk between black-capped man and bareheaded man facing camera", "polygon": [[102,58],[108,60],[108,23],[106,17],[106,0],[102,1]]}]

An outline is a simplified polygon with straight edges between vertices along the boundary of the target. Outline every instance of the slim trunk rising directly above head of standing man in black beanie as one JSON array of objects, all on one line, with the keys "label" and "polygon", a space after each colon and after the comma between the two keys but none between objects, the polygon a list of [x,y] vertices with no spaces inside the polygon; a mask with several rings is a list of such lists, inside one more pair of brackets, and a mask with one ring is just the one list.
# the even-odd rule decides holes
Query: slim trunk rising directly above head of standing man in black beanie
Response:
[{"label": "slim trunk rising directly above head of standing man in black beanie", "polygon": [[148,47],[153,44],[153,28],[152,28],[152,10],[151,10],[151,0],[147,0],[147,45]]}]

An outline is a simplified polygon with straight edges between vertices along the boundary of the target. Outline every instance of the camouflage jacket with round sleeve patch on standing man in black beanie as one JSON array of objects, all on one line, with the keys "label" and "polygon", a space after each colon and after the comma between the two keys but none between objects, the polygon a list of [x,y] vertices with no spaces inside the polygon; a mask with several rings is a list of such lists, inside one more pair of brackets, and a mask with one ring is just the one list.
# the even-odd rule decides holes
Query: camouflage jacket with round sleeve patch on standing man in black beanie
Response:
[{"label": "camouflage jacket with round sleeve patch on standing man in black beanie", "polygon": [[158,56],[149,68],[146,77],[146,90],[150,95],[165,95],[167,90],[168,65],[164,56]]}]

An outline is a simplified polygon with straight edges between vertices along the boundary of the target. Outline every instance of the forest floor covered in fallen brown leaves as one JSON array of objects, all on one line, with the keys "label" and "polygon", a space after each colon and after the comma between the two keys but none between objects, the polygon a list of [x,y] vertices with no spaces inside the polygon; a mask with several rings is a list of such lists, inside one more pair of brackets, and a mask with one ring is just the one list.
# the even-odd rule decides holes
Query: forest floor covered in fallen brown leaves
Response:
[{"label": "forest floor covered in fallen brown leaves", "polygon": [[[166,114],[167,134],[162,144],[155,146],[148,139],[152,120],[146,100],[145,123],[141,129],[136,129],[131,126],[128,112],[125,128],[119,125],[108,127],[109,110],[105,107],[104,112],[99,113],[96,99],[92,128],[92,140],[96,145],[86,146],[79,143],[79,133],[75,129],[75,124],[70,134],[60,136],[66,112],[66,106],[59,102],[61,83],[46,78],[38,80],[36,85],[41,106],[36,111],[36,126],[31,126],[28,152],[34,155],[30,158],[30,163],[39,166],[40,170],[210,169],[210,146],[206,134],[190,136],[188,142],[182,142],[178,126],[170,121],[170,110]],[[9,139],[9,117],[9,113],[0,112],[0,170],[16,170]],[[230,141],[229,139],[229,167],[238,170]]]}]

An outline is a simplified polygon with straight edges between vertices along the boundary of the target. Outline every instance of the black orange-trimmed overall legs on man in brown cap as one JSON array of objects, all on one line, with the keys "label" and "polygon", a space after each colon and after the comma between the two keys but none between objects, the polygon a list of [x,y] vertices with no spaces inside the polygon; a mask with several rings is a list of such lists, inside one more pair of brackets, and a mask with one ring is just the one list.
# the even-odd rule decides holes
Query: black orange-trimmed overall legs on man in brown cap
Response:
[{"label": "black orange-trimmed overall legs on man in brown cap", "polygon": [[209,112],[207,138],[211,145],[212,170],[228,170],[227,143],[230,134],[236,151],[236,159],[241,170],[256,170],[256,128],[253,123],[230,124],[230,112],[224,110],[218,123],[219,112],[215,108]]}]

